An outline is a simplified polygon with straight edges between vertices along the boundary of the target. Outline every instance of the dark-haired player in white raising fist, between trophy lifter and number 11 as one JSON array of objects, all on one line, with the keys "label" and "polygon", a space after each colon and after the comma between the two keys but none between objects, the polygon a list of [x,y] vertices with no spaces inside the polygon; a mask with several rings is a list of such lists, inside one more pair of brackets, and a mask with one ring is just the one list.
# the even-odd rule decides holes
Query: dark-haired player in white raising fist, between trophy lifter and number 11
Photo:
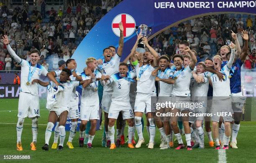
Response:
[{"label": "dark-haired player in white raising fist, between trophy lifter and number 11", "polygon": [[[188,52],[190,57],[191,57],[191,63],[189,64],[189,66],[187,66],[186,68],[183,67],[183,57],[182,55],[174,55],[173,60],[174,60],[174,66],[176,68],[176,70],[174,71],[174,79],[175,83],[173,86],[173,90],[172,90],[172,100],[174,100],[175,102],[178,101],[179,103],[188,103],[190,102],[190,90],[189,90],[189,83],[190,83],[190,78],[192,76],[192,70],[194,70],[195,68],[195,64],[197,63],[197,58],[196,56],[191,52],[191,50],[189,49],[189,47],[185,47],[184,48],[184,52]],[[181,113],[189,113],[189,108],[186,107],[180,107],[180,108],[174,108],[172,110],[172,113],[174,114],[174,117],[172,117],[171,119],[171,124],[172,124],[172,128],[174,130],[174,135],[176,136],[177,140],[178,140],[178,147],[175,148],[177,150],[184,148],[183,142],[182,142],[182,138],[181,138],[181,134],[179,133],[179,128],[177,126],[177,116],[176,114],[178,112]],[[182,117],[182,122],[184,125],[184,130],[185,130],[185,137],[186,137],[186,141],[187,141],[187,150],[192,150],[191,148],[191,134],[190,134],[190,127],[189,127],[189,122],[188,122],[188,117],[183,116]]]}]

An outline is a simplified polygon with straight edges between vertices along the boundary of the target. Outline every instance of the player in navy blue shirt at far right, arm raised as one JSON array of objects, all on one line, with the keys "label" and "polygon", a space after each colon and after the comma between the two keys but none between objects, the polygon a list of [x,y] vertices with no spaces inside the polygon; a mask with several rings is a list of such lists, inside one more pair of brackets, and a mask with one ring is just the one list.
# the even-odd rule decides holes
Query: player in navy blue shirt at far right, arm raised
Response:
[{"label": "player in navy blue shirt at far right, arm raised", "polygon": [[[230,146],[232,148],[238,148],[236,143],[236,137],[240,128],[240,119],[242,115],[243,104],[245,103],[245,97],[242,95],[241,91],[241,67],[248,55],[248,32],[242,31],[242,38],[245,40],[243,50],[241,55],[237,58],[235,57],[232,67],[230,69],[230,91],[232,100],[232,109],[234,111],[234,124],[232,127],[232,140]],[[230,60],[230,55],[227,55],[227,59]]]}]

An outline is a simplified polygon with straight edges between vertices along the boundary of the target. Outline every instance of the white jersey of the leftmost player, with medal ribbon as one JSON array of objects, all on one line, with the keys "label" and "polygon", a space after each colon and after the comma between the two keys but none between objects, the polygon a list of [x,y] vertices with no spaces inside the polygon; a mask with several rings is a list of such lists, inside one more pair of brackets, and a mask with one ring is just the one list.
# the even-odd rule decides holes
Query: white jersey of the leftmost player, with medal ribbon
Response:
[{"label": "white jersey of the leftmost player, with medal ribbon", "polygon": [[[48,71],[44,68],[44,66],[36,64],[36,67],[30,65],[30,62],[26,60],[21,60],[21,73],[20,73],[20,92],[31,93],[31,95],[38,96],[38,83],[31,84],[34,79],[39,79],[41,75],[46,77]],[[31,68],[29,72],[29,67]],[[33,72],[34,68],[36,70]],[[33,74],[32,74],[33,72]],[[29,85],[26,83],[28,82],[28,74],[31,74],[31,79],[29,81]]]}]

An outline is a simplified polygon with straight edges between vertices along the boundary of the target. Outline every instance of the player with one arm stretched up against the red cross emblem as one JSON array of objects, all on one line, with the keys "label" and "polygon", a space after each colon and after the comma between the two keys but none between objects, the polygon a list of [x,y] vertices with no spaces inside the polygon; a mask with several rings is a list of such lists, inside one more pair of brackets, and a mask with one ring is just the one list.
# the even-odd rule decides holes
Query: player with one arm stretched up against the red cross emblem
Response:
[{"label": "player with one arm stretched up against the red cross emblem", "polygon": [[[119,23],[119,30],[120,30],[120,39],[119,39],[119,45],[118,45],[118,50],[116,55],[113,56],[112,50],[110,48],[105,48],[103,50],[103,64],[99,65],[98,68],[100,70],[100,73],[102,75],[113,75],[115,73],[118,73],[118,66],[120,63],[120,58],[123,53],[123,23]],[[110,138],[108,134],[108,110],[110,108],[111,104],[111,97],[113,94],[113,88],[112,84],[110,85],[105,85],[103,87],[103,96],[102,96],[102,105],[101,108],[104,110],[104,128],[105,128],[105,133],[106,133],[106,138],[107,138],[107,146],[110,147]]]}]

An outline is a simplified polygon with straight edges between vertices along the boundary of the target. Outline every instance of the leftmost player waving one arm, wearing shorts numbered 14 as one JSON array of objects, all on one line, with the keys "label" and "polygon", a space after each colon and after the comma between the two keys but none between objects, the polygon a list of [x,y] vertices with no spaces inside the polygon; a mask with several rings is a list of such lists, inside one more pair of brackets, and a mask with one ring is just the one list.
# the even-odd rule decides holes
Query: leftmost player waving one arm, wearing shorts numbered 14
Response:
[{"label": "leftmost player waving one arm, wearing shorts numbered 14", "polygon": [[10,47],[7,35],[2,38],[3,43],[7,46],[8,52],[14,60],[21,65],[20,97],[18,103],[18,123],[17,123],[17,150],[23,150],[21,146],[21,134],[23,123],[26,117],[32,119],[33,141],[30,144],[31,150],[36,150],[36,140],[38,133],[38,117],[40,117],[40,106],[38,97],[38,84],[31,84],[34,79],[46,76],[48,71],[41,65],[37,64],[40,59],[40,52],[32,50],[30,61],[21,59]]}]

